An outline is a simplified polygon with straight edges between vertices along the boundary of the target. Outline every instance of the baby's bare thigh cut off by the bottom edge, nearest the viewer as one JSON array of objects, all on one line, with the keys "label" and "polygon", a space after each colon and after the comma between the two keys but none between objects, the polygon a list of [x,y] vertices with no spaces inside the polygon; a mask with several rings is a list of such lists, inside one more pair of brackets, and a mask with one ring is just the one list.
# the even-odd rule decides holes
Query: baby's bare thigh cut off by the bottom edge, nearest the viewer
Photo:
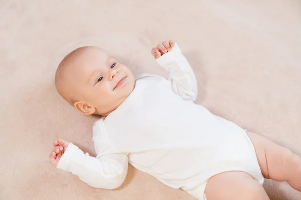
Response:
[{"label": "baby's bare thigh cut off by the bottom edge, nearest the viewer", "polygon": [[205,189],[207,200],[269,199],[262,185],[249,174],[241,171],[219,173],[211,177]]}]

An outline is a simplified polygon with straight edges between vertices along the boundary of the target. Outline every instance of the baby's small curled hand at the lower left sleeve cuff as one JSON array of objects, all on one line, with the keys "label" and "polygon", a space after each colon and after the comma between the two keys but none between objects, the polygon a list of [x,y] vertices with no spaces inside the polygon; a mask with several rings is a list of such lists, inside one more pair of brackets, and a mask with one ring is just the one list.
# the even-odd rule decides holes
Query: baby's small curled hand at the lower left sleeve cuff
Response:
[{"label": "baby's small curled hand at the lower left sleeve cuff", "polygon": [[52,165],[57,166],[68,145],[69,142],[61,138],[53,142],[54,148],[49,155],[49,161]]}]

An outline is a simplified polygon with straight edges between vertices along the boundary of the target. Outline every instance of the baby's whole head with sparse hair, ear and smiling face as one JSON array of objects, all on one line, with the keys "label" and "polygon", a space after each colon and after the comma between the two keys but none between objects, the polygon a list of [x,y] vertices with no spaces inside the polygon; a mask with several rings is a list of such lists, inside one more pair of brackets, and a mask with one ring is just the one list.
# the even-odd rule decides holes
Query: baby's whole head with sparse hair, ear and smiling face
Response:
[{"label": "baby's whole head with sparse hair, ear and smiling face", "polygon": [[70,52],[60,62],[55,84],[61,96],[85,115],[106,116],[132,92],[130,69],[95,46]]}]

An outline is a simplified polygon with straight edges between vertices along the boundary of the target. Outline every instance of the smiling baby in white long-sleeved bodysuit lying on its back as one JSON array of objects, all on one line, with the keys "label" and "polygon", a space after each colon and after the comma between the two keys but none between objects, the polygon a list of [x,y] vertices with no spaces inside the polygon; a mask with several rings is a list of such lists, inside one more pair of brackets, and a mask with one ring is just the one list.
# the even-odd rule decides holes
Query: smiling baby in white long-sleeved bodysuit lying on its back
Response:
[{"label": "smiling baby in white long-sleeved bodysuit lying on its back", "polygon": [[198,199],[269,199],[264,178],[301,191],[301,158],[289,149],[195,104],[197,80],[172,40],[152,49],[169,78],[130,69],[104,50],[84,46],[59,64],[61,96],[93,125],[96,157],[63,139],[49,159],[89,185],[119,187],[128,162]]}]

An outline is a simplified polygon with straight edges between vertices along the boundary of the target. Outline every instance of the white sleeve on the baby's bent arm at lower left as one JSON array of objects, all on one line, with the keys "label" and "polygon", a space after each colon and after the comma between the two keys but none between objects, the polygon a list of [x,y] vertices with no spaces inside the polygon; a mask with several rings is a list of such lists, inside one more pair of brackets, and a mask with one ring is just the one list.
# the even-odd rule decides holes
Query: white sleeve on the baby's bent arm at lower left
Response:
[{"label": "white sleeve on the baby's bent arm at lower left", "polygon": [[93,125],[93,141],[97,156],[84,154],[76,145],[69,143],[57,168],[70,171],[93,187],[115,189],[126,177],[128,158],[126,153],[115,149],[107,133],[100,131],[100,125],[97,122]]}]

